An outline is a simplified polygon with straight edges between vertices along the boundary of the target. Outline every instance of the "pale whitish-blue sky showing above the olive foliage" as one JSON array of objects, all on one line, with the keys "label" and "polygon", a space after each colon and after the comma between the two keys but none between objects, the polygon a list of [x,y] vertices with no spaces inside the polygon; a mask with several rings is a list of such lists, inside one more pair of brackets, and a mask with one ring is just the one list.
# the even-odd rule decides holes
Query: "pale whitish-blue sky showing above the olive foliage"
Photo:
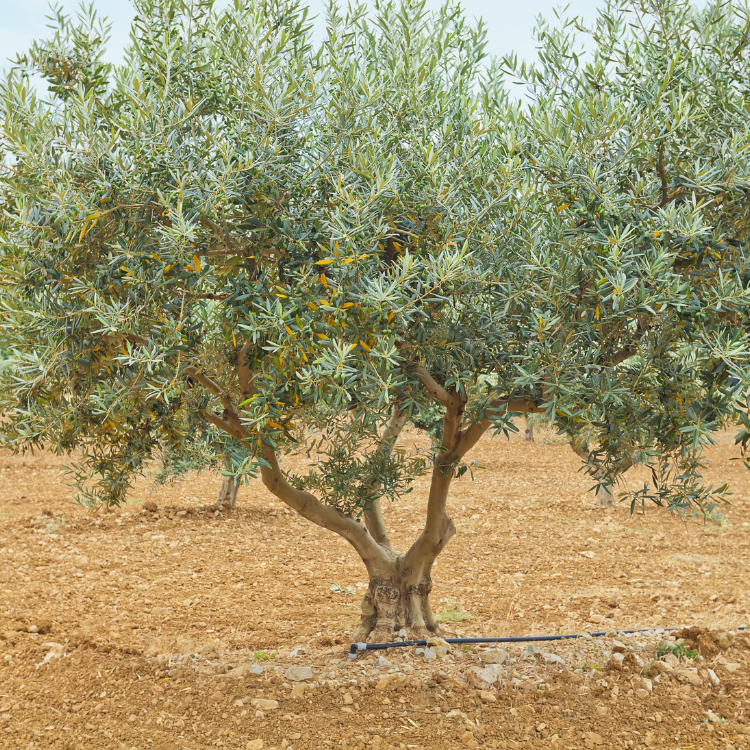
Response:
[{"label": "pale whitish-blue sky showing above the olive foliage", "polygon": [[[59,0],[59,4],[70,14],[79,7],[78,0]],[[428,7],[440,4],[440,0],[427,0]],[[553,9],[561,7],[559,0],[464,0],[462,4],[469,17],[481,16],[486,21],[491,54],[504,55],[515,51],[527,60],[535,56],[531,37],[534,18],[540,13],[552,18]],[[600,4],[597,0],[570,0],[568,13],[590,20]],[[322,0],[310,0],[309,6],[313,15],[322,16]],[[133,15],[130,2],[94,0],[94,7],[113,22],[108,58],[119,61]],[[26,50],[32,40],[46,36],[45,16],[49,3],[47,0],[0,0],[0,8],[0,67],[5,68],[8,59]]]}]

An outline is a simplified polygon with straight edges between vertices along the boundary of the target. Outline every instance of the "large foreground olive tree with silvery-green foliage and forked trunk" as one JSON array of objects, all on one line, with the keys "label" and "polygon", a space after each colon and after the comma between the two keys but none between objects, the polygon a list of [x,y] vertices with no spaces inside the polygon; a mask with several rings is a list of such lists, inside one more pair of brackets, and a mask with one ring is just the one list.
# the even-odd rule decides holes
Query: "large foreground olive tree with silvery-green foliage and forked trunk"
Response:
[{"label": "large foreground olive tree with silvery-green foliage and forked trunk", "polygon": [[[718,33],[670,7],[694,36]],[[295,2],[136,10],[122,65],[102,62],[106,30],[82,13],[2,85],[4,445],[77,451],[88,505],[123,502],[153,459],[259,474],[361,557],[362,640],[440,632],[451,483],[514,416],[593,430],[600,484],[624,460],[671,462],[650,496],[710,505],[700,452],[748,385],[747,252],[728,234],[746,205],[739,77],[724,145],[696,118],[679,136],[702,149],[695,189],[721,202],[693,183],[663,202],[654,129],[703,89],[659,99],[660,60],[635,106],[630,79],[603,93],[582,67],[570,92],[535,72],[529,107],[450,3],[332,4],[318,46]],[[745,28],[727,18],[722,33]],[[623,36],[650,64],[653,32]],[[715,53],[717,85],[742,65],[735,46]],[[712,49],[694,46],[695,65]],[[432,449],[407,451],[404,425],[431,409]],[[424,473],[402,552],[387,506]]]}]

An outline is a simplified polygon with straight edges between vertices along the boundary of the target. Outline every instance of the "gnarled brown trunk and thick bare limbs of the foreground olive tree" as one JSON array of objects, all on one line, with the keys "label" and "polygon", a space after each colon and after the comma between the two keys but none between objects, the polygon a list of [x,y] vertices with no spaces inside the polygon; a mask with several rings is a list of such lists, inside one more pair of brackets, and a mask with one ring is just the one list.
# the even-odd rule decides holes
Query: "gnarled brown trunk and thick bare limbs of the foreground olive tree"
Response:
[{"label": "gnarled brown trunk and thick bare limbs of the foreground olive tree", "polygon": [[[253,373],[246,360],[246,351],[247,347],[238,350],[235,364],[243,401],[253,392]],[[432,397],[445,407],[445,413],[442,439],[434,455],[424,527],[406,553],[397,553],[388,538],[378,500],[377,477],[361,488],[367,500],[363,503],[362,523],[353,515],[327,505],[310,492],[290,484],[281,471],[274,450],[268,448],[259,454],[263,459],[261,478],[267,489],[302,517],[346,539],[367,568],[370,585],[362,601],[362,619],[354,634],[360,642],[392,641],[402,629],[412,636],[441,633],[429,602],[432,589],[430,573],[438,555],[456,533],[446,510],[448,490],[458,462],[476,445],[491,424],[491,419],[483,416],[463,426],[465,396],[455,389],[439,385],[421,366],[415,367],[414,372]],[[222,391],[218,384],[197,368],[190,368],[188,374],[216,394],[224,407],[221,415],[206,411],[206,419],[238,440],[250,438],[251,434],[243,426],[230,394]],[[491,411],[541,413],[543,409],[530,399],[519,398],[493,402],[487,409],[487,412]],[[393,447],[405,423],[406,417],[398,409],[394,410],[381,438],[384,449]]]}]

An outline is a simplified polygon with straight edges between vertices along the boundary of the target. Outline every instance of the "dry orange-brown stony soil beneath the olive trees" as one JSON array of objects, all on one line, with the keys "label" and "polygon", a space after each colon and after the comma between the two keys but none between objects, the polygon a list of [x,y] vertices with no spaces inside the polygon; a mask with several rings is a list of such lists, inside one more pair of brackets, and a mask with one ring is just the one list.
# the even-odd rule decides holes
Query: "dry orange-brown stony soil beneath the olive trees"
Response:
[{"label": "dry orange-brown stony soil beneath the olive trees", "polygon": [[[434,570],[445,628],[609,635],[350,661],[361,563],[259,482],[230,511],[212,505],[216,475],[144,479],[127,507],[94,514],[71,501],[61,459],[0,454],[0,748],[750,750],[737,457],[721,435],[706,476],[735,494],[703,525],[597,509],[550,435],[485,439]],[[387,511],[401,549],[425,495],[420,482]],[[616,632],[678,626],[694,629]]]}]

